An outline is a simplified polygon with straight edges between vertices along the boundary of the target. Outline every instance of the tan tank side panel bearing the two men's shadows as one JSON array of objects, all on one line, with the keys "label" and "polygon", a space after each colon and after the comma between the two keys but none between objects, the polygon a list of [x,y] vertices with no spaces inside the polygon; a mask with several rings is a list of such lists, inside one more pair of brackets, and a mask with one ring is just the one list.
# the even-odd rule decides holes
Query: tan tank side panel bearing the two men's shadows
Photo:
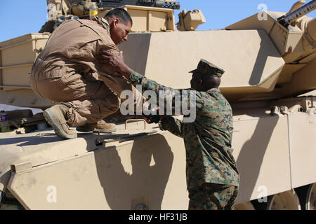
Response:
[{"label": "tan tank side panel bearing the two men's shadows", "polygon": [[27,209],[135,209],[137,204],[187,209],[182,139],[162,132],[78,154],[22,166],[8,189]]}]

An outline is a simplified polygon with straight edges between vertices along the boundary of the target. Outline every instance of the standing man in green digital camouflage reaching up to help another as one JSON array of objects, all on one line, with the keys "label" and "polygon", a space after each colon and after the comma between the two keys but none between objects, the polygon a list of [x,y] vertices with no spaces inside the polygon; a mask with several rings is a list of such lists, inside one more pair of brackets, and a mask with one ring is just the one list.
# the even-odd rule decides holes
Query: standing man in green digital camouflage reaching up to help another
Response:
[{"label": "standing man in green digital camouflage reaching up to help another", "polygon": [[[121,73],[131,84],[142,85],[143,91],[154,90],[157,95],[161,90],[175,92],[173,88],[159,85],[130,69],[124,63],[123,55],[103,51],[102,54],[98,57],[101,64]],[[232,109],[219,89],[224,71],[201,59],[197,69],[190,72],[191,88],[180,92],[187,91],[185,96],[189,98],[195,96],[195,104],[190,105],[196,106],[193,110],[195,120],[185,123],[184,119],[159,116],[159,125],[184,139],[189,209],[234,209],[239,172],[232,156]],[[191,100],[178,99],[181,104]],[[176,100],[172,102],[175,106]]]}]

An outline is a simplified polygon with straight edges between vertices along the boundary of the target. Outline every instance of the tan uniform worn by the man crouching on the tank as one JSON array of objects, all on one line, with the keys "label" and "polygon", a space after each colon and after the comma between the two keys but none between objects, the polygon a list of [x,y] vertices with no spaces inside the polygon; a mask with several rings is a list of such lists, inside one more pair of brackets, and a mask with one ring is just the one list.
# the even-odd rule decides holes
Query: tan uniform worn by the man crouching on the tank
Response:
[{"label": "tan uniform worn by the man crouching on the tank", "polygon": [[96,63],[100,50],[119,55],[107,20],[67,20],[53,31],[32,66],[34,92],[69,106],[70,127],[96,123],[115,113],[123,90],[133,91],[134,103],[142,103],[126,78]]}]

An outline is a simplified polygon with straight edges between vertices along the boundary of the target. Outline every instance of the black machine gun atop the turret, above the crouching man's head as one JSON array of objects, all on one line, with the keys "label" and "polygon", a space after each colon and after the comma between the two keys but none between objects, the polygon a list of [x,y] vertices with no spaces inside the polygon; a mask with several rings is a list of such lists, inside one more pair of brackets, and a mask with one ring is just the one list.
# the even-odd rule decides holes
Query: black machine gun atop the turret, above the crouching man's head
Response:
[{"label": "black machine gun atop the turret, above the crouching man's head", "polygon": [[180,3],[157,0],[96,0],[99,7],[117,8],[124,5],[180,9]]}]

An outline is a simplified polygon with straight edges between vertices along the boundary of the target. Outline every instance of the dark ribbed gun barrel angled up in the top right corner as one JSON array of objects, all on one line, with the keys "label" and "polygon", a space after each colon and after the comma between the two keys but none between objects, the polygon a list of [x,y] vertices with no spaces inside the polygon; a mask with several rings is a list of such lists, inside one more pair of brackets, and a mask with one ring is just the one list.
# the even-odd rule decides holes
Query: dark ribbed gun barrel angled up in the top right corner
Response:
[{"label": "dark ribbed gun barrel angled up in the top right corner", "polygon": [[305,3],[305,5],[303,5],[300,8],[294,10],[293,12],[282,16],[278,20],[279,20],[279,22],[282,25],[284,25],[284,27],[287,27],[292,22],[295,22],[296,20],[298,20],[298,18],[301,18],[303,15],[306,15],[306,14],[310,13],[315,8],[316,8],[316,0],[312,0],[309,3]]}]

